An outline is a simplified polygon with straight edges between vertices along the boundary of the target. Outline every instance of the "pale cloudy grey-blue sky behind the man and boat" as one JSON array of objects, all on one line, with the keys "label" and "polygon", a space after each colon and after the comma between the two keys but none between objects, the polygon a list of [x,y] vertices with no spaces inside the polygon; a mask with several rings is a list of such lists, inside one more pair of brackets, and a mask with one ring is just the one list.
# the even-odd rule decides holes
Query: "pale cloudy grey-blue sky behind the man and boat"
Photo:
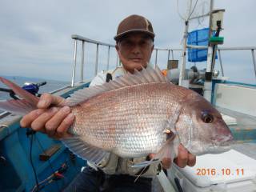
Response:
[{"label": "pale cloudy grey-blue sky behind the man and boat", "polygon": [[[177,2],[178,5],[177,6]],[[100,42],[114,44],[118,23],[130,14],[140,14],[152,22],[156,34],[154,46],[181,48],[184,22],[179,14],[186,14],[186,0],[0,0],[0,75],[71,80],[74,40],[78,34]],[[193,5],[196,0],[193,0]],[[198,0],[194,14],[202,13],[203,4]],[[224,45],[256,46],[256,1],[215,0],[214,8],[225,9],[221,36]],[[205,9],[206,11],[206,9]],[[178,14],[179,13],[179,14]],[[190,23],[190,30],[207,26],[208,18]],[[86,44],[84,73],[94,75],[94,45]],[[81,45],[78,44],[78,69],[81,61]],[[255,53],[256,54],[256,53]],[[107,49],[99,49],[98,71],[106,67]],[[181,53],[174,52],[180,59]],[[154,62],[154,53],[152,54]],[[167,52],[158,53],[158,65],[166,67]],[[230,80],[256,84],[250,50],[222,53],[225,76]],[[110,67],[116,64],[115,50],[110,52]],[[194,65],[187,63],[187,67]],[[197,63],[199,69],[206,62]],[[219,69],[219,62],[216,62]]]}]

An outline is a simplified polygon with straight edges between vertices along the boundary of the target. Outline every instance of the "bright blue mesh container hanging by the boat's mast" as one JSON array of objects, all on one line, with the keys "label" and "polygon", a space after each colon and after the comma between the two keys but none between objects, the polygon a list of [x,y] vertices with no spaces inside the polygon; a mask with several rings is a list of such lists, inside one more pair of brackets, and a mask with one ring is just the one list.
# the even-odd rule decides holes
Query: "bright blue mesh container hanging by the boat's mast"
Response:
[{"label": "bright blue mesh container hanging by the boat's mast", "polygon": [[[193,46],[208,46],[208,33],[209,28],[202,30],[193,30],[188,34],[187,44]],[[215,32],[213,32],[213,35]],[[216,58],[217,59],[217,55]],[[207,49],[195,50],[188,49],[188,61],[189,62],[205,62],[207,61]]]}]

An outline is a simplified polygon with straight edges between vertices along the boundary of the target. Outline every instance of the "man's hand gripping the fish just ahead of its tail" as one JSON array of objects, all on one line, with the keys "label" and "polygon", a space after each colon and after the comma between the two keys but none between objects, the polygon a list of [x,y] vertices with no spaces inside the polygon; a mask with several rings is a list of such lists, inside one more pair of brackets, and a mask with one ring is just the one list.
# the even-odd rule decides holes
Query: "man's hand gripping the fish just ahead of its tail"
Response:
[{"label": "man's hand gripping the fish just ahead of its tail", "polygon": [[[38,102],[38,110],[26,114],[20,124],[31,127],[35,131],[48,134],[51,138],[66,138],[68,128],[74,122],[74,114],[69,106],[62,106],[64,98],[51,94],[42,94]],[[54,107],[50,107],[54,105]],[[50,108],[49,108],[50,107]]]}]

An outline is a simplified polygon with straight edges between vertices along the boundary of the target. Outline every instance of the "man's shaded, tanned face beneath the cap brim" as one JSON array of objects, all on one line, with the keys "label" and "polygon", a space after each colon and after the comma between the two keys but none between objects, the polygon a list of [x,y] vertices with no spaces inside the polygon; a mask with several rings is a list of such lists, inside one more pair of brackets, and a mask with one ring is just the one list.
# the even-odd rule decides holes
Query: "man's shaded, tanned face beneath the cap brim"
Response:
[{"label": "man's shaded, tanned face beneath the cap brim", "polygon": [[128,34],[116,45],[122,66],[130,73],[142,70],[142,66],[146,68],[153,49],[152,39],[142,33]]}]

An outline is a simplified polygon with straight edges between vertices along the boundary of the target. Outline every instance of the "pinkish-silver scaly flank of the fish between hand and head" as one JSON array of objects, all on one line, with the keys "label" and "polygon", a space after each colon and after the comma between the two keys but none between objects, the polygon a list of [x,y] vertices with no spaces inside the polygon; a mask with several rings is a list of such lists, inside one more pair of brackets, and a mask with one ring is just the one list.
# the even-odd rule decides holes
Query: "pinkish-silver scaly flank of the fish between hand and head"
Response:
[{"label": "pinkish-silver scaly flank of the fish between hand and head", "polygon": [[166,142],[163,130],[172,113],[168,110],[177,105],[168,86],[172,84],[128,86],[91,98],[72,110],[76,116],[73,131],[85,135],[91,145],[97,146],[100,138],[104,146],[118,148],[124,156],[157,152]]}]

